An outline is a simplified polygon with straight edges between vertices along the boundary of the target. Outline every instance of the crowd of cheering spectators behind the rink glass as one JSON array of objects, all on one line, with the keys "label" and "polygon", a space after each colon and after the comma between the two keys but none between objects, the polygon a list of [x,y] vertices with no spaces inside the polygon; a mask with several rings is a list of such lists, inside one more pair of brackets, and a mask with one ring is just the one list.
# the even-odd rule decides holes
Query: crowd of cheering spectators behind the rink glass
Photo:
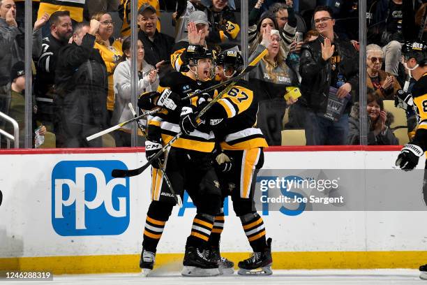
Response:
[{"label": "crowd of cheering spectators behind the rink glass", "polygon": [[[426,39],[424,2],[366,1],[368,144],[399,143],[383,101],[401,105],[396,92],[407,74],[400,49],[405,41]],[[269,145],[286,140],[283,129],[304,129],[306,145],[359,144],[359,1],[250,0],[248,31],[241,29],[237,0],[138,0],[137,6],[137,94],[181,71],[180,54],[189,44],[241,50],[246,33],[249,60],[264,47],[269,51],[249,74],[260,96],[257,124]],[[170,22],[160,22],[163,13]],[[33,86],[27,93],[33,133],[53,133],[54,147],[102,147],[105,140],[86,136],[133,117],[131,15],[130,0],[33,1]],[[20,122],[23,147],[24,1],[0,0],[0,45],[0,112]],[[290,87],[301,96],[285,100]],[[406,115],[410,132],[415,114]],[[0,119],[5,128],[13,133]],[[131,132],[123,126],[112,133],[112,145],[130,146]]]}]

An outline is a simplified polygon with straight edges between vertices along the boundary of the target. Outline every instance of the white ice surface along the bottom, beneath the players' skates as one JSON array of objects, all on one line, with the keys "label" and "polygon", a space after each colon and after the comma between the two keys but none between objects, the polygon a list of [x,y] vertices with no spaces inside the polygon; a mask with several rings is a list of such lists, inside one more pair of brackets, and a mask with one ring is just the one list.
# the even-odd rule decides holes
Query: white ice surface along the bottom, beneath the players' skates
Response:
[{"label": "white ice surface along the bottom, beneath the players' skates", "polygon": [[419,279],[418,270],[274,270],[274,274],[266,277],[241,277],[234,275],[219,277],[181,277],[180,272],[153,272],[151,277],[138,274],[101,274],[101,275],[57,275],[54,280],[13,281],[1,284],[156,284],[156,285],[213,285],[213,284],[427,284],[427,280]]}]

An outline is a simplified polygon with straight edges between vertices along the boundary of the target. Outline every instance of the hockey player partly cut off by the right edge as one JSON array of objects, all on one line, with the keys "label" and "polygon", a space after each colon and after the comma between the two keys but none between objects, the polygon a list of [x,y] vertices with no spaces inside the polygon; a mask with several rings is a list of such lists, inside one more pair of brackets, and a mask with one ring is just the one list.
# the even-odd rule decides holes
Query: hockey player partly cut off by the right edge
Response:
[{"label": "hockey player partly cut off by the right edge", "polygon": [[[417,112],[418,127],[412,142],[403,146],[396,166],[408,171],[414,169],[419,161],[419,157],[427,150],[427,43],[424,41],[407,42],[402,47],[402,54],[405,57],[405,68],[414,80],[417,80],[412,87],[411,94],[406,94],[403,90],[398,91],[398,96],[407,105],[412,105]],[[427,161],[424,170],[423,195],[427,205]],[[427,279],[427,264],[419,267],[420,278]]]}]

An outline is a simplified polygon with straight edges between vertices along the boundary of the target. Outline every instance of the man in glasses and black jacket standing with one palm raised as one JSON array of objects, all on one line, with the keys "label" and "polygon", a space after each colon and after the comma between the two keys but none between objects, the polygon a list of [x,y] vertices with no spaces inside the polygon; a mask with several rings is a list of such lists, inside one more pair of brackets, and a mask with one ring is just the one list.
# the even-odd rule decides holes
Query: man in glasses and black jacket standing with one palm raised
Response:
[{"label": "man in glasses and black jacket standing with one palm raised", "polygon": [[334,34],[331,8],[318,6],[314,22],[320,37],[303,45],[299,66],[307,145],[345,145],[350,92],[358,89],[359,56],[350,41]]}]

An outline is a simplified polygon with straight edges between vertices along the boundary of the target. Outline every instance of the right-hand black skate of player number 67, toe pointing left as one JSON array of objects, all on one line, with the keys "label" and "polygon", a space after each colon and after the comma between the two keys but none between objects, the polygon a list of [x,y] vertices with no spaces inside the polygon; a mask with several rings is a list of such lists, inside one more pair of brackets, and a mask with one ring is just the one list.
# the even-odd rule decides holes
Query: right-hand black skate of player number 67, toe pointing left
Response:
[{"label": "right-hand black skate of player number 67, toe pointing left", "polygon": [[264,251],[254,252],[250,258],[239,262],[239,275],[271,275],[271,238],[267,240]]}]

